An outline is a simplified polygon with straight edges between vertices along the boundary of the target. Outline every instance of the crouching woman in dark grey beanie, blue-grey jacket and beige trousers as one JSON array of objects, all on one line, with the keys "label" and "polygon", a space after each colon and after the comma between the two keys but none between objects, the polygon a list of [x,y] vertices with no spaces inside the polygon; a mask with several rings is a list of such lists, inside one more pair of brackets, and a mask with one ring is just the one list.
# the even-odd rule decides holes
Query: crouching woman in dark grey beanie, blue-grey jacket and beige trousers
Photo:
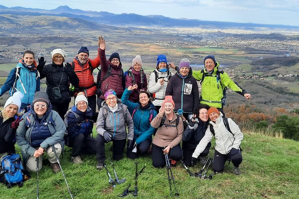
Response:
[{"label": "crouching woman in dark grey beanie, blue-grey jacket and beige trousers", "polygon": [[54,173],[60,171],[57,158],[64,147],[65,125],[59,114],[52,110],[51,102],[45,92],[34,94],[31,109],[22,116],[23,120],[16,129],[16,143],[20,147],[24,164],[28,171],[42,168],[43,154],[47,153],[48,160]]}]

